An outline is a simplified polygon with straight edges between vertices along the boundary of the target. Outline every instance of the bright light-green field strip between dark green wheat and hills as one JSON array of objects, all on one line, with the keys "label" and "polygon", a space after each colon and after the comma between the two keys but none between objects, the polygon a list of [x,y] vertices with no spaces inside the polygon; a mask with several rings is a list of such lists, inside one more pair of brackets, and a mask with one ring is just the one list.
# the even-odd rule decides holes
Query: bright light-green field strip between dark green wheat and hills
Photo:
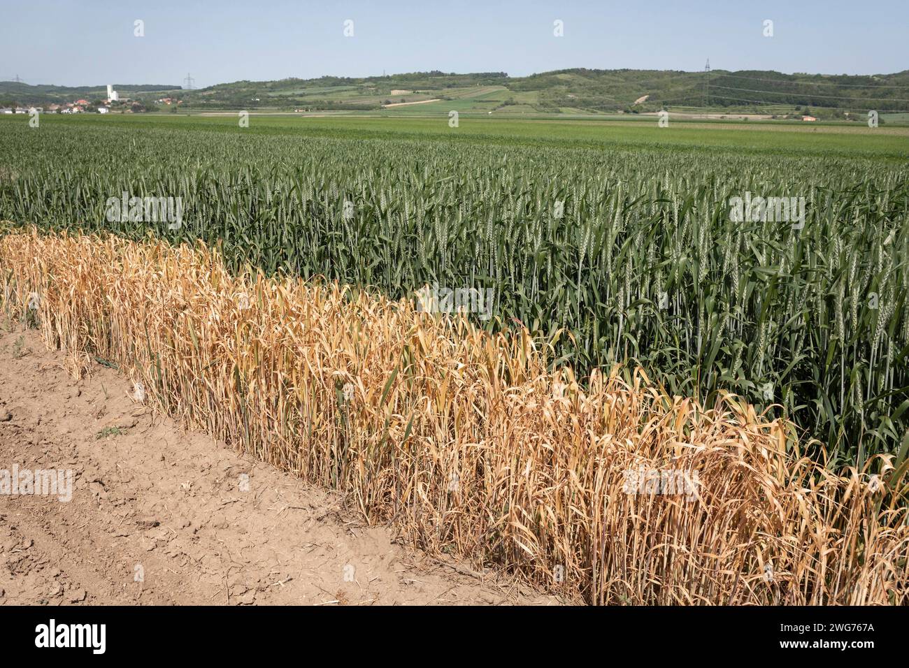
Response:
[{"label": "bright light-green field strip between dark green wheat and hills", "polygon": [[[494,95],[489,93],[487,95]],[[437,103],[457,110],[456,101]],[[409,107],[415,116],[436,103]],[[398,107],[398,109],[405,107]],[[25,124],[27,116],[0,116],[0,123]],[[433,139],[451,142],[492,142],[505,145],[552,145],[559,148],[647,147],[694,151],[785,155],[863,155],[888,160],[909,158],[909,127],[868,128],[864,125],[670,121],[658,127],[656,117],[634,121],[589,119],[498,119],[461,116],[449,127],[447,111],[434,117],[368,117],[251,115],[242,130],[250,135],[300,135],[346,139]],[[237,117],[228,115],[84,115],[43,116],[45,127],[98,126],[179,128],[193,131],[240,132]]]}]

